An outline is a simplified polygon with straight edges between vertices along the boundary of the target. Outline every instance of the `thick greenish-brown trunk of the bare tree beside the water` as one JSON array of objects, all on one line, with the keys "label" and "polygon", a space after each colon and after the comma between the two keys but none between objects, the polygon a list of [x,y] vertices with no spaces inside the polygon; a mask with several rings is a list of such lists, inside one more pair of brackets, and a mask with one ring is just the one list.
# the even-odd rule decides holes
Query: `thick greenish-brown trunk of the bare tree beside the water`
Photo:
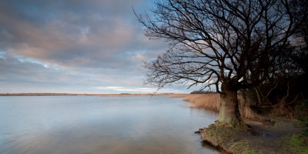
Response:
[{"label": "thick greenish-brown trunk of the bare tree beside the water", "polygon": [[225,85],[221,86],[218,121],[233,126],[243,125],[239,110],[237,91]]}]

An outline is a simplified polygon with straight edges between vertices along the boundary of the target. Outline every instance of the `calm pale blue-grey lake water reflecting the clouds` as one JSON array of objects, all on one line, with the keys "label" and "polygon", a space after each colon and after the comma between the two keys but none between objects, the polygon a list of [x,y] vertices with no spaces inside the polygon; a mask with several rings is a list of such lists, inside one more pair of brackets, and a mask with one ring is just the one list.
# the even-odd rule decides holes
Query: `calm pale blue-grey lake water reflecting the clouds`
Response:
[{"label": "calm pale blue-grey lake water reflecting the clouds", "polygon": [[218,153],[194,131],[217,119],[166,97],[0,97],[0,153]]}]

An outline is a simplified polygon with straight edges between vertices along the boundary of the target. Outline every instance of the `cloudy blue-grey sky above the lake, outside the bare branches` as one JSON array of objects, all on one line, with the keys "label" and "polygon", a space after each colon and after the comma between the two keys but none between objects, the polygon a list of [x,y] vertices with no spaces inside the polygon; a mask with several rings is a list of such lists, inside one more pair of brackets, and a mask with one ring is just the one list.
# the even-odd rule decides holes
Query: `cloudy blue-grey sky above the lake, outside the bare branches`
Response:
[{"label": "cloudy blue-grey sky above the lake, outside the bare branches", "polygon": [[[0,93],[152,93],[144,61],[166,51],[138,14],[148,0],[0,1]],[[150,13],[150,12],[149,12]],[[158,93],[188,93],[179,85]]]}]

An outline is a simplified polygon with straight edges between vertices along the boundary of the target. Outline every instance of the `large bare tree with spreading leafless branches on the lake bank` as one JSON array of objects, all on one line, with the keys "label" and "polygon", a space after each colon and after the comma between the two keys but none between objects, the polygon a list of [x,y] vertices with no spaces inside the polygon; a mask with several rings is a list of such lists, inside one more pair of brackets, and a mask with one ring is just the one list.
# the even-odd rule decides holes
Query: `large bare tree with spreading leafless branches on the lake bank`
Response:
[{"label": "large bare tree with spreading leafless branches on the lake bank", "polygon": [[296,30],[291,10],[287,0],[158,1],[153,16],[137,15],[146,36],[170,45],[145,63],[146,83],[215,87],[221,93],[219,122],[242,125],[238,90],[265,80]]}]

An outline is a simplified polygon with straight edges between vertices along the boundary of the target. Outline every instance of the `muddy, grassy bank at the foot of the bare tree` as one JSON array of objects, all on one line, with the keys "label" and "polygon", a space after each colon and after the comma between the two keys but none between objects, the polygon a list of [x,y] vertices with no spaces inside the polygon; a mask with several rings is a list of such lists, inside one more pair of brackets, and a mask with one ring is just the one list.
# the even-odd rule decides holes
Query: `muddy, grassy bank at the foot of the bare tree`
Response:
[{"label": "muddy, grassy bank at the foot of the bare tree", "polygon": [[300,138],[294,121],[275,122],[245,120],[249,127],[232,127],[219,123],[200,130],[201,138],[223,153],[308,153],[307,138]]}]

